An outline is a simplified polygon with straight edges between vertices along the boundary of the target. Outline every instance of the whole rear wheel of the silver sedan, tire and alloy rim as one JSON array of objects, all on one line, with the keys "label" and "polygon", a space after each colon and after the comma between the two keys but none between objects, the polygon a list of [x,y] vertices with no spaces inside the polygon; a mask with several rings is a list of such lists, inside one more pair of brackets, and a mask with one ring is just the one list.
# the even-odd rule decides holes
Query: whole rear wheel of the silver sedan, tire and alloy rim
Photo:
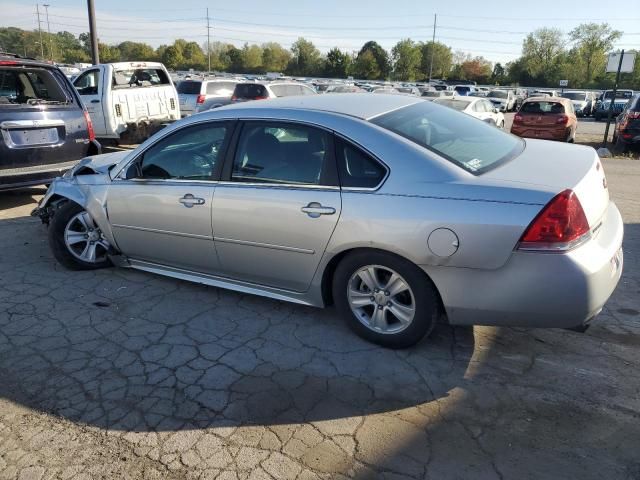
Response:
[{"label": "whole rear wheel of the silver sedan, tire and alloy rim", "polygon": [[[360,337],[383,347],[415,345],[431,333],[439,317],[439,297],[427,275],[408,260],[379,250],[359,251],[342,259],[332,288],[336,308],[347,325]],[[413,312],[411,318],[409,311]],[[378,328],[371,325],[376,322]]]}]

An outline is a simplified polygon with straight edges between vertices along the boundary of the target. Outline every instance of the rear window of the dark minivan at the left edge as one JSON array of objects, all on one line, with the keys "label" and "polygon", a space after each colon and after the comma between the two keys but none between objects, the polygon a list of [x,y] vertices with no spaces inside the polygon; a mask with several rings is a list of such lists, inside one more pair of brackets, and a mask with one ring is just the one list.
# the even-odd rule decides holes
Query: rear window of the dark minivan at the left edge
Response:
[{"label": "rear window of the dark minivan at the left edge", "polygon": [[0,68],[0,108],[71,103],[73,94],[63,77],[47,68]]}]

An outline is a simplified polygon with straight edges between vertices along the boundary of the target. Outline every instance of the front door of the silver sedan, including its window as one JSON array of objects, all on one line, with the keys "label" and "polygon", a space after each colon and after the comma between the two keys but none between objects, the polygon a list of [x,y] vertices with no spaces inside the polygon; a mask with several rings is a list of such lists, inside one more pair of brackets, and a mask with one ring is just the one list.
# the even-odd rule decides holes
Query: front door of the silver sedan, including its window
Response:
[{"label": "front door of the silver sedan, including its window", "polygon": [[211,210],[233,124],[201,122],[144,150],[109,186],[107,211],[128,257],[215,273]]}]

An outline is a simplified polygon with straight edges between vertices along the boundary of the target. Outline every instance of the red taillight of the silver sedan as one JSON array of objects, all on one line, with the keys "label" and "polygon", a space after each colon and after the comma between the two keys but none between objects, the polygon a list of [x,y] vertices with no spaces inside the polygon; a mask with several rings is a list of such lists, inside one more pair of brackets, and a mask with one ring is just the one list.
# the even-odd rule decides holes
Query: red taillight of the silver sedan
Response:
[{"label": "red taillight of the silver sedan", "polygon": [[589,238],[589,222],[573,190],[556,195],[527,227],[518,250],[566,251]]}]

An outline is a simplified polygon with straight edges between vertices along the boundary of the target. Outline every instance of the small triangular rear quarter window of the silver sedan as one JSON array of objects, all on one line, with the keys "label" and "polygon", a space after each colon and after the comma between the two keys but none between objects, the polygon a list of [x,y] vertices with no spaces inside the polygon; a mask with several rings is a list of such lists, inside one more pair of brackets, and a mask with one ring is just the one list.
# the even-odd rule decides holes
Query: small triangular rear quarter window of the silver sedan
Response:
[{"label": "small triangular rear quarter window of the silver sedan", "polygon": [[351,144],[338,141],[336,150],[340,184],[345,188],[375,188],[387,174],[377,160]]}]

